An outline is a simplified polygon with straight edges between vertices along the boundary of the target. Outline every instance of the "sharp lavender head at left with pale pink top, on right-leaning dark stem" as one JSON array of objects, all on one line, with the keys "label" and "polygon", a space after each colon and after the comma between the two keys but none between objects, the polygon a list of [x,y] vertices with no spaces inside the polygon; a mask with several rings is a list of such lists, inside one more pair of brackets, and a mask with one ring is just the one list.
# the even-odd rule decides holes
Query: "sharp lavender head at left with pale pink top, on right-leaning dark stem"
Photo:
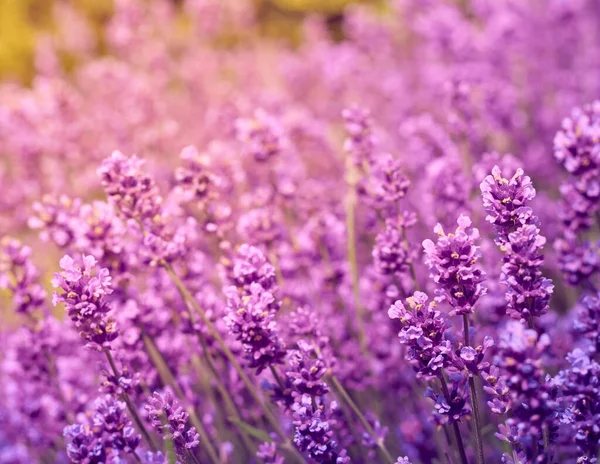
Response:
[{"label": "sharp lavender head at left with pale pink top, on right-leaning dark stem", "polygon": [[110,349],[110,342],[118,336],[115,321],[108,316],[111,310],[106,296],[112,293],[111,277],[108,269],[100,269],[95,276],[96,266],[93,256],[83,256],[83,269],[69,255],[60,260],[61,272],[52,279],[54,288],[53,303],[65,303],[65,308],[87,347],[102,351]]}]

